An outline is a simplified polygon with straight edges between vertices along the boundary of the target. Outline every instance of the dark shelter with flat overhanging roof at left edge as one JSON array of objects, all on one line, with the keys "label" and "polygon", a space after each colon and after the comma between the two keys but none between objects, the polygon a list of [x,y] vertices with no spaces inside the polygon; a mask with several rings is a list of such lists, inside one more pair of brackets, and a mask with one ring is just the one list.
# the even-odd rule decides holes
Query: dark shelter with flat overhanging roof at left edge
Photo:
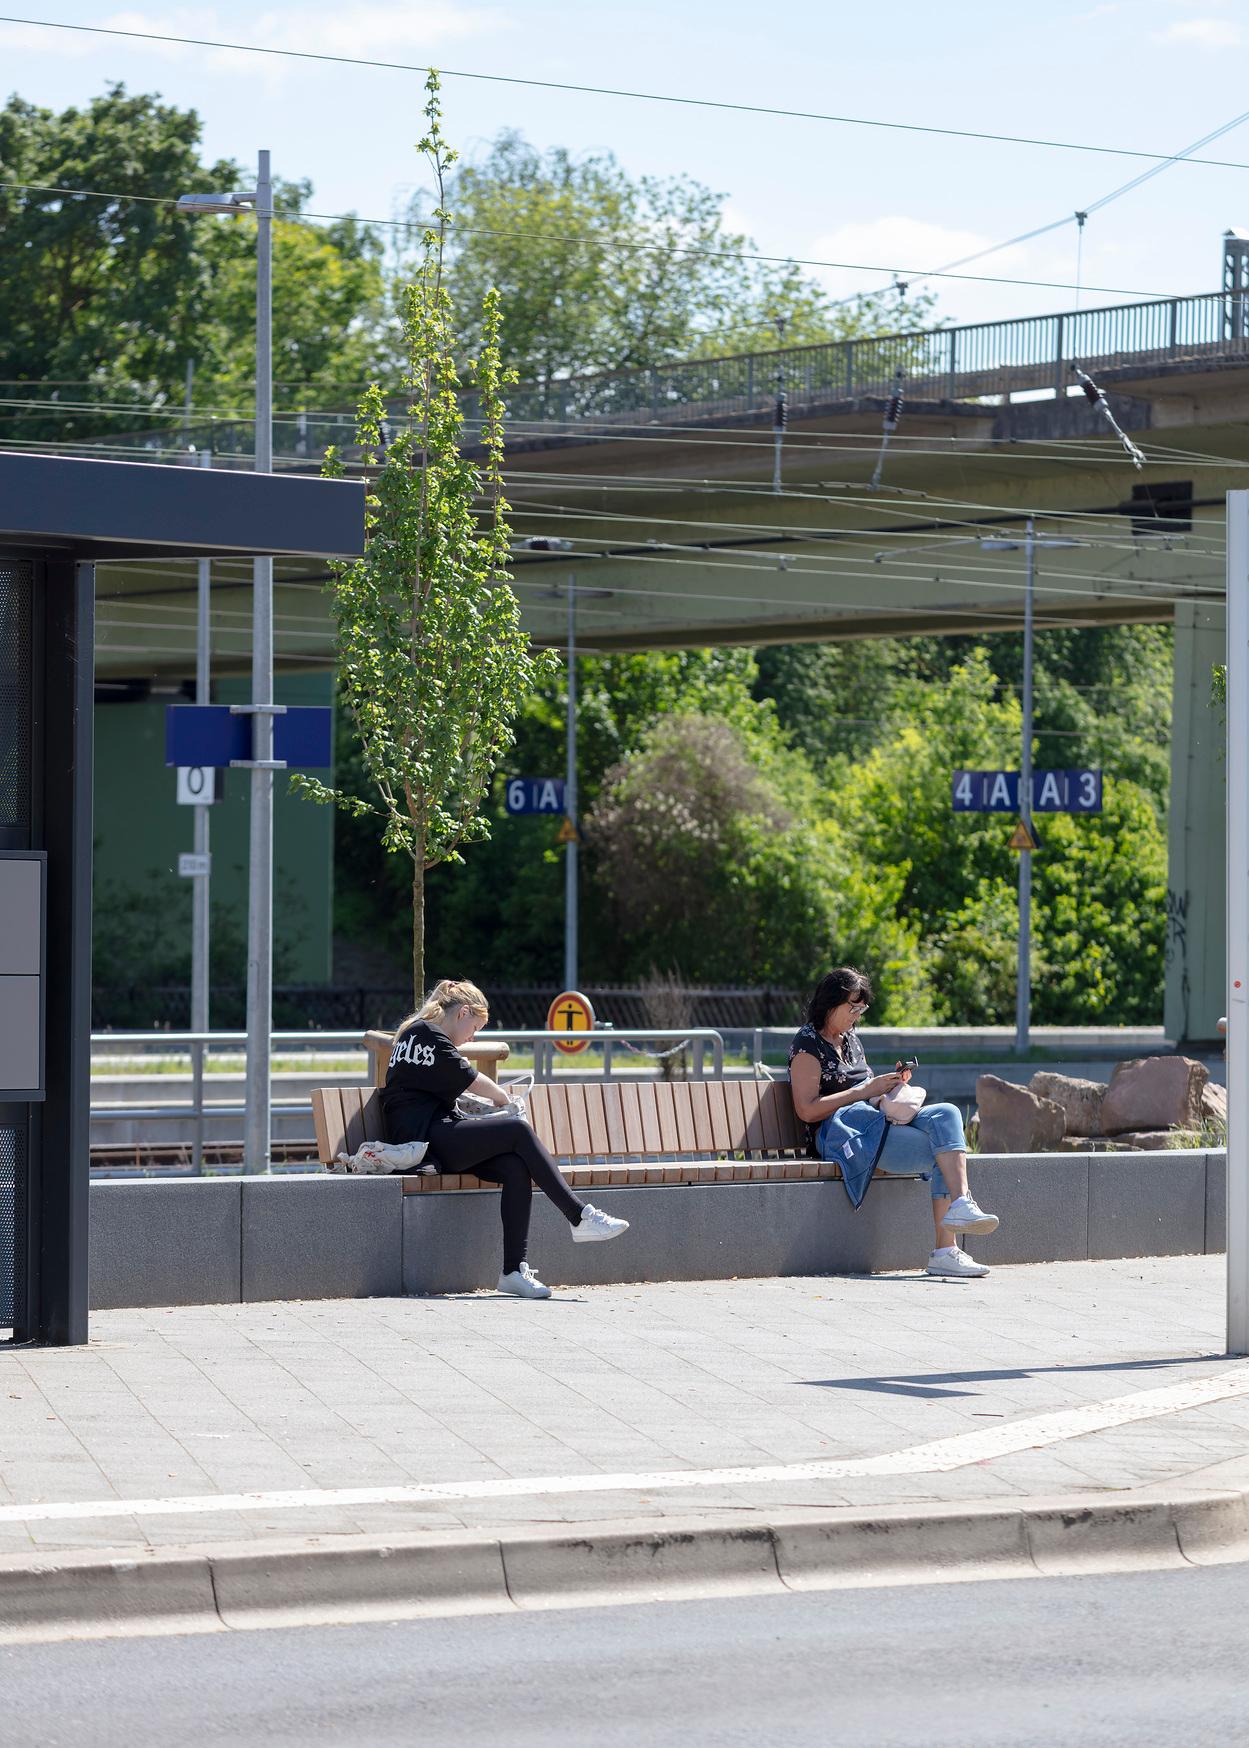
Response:
[{"label": "dark shelter with flat overhanging roof at left edge", "polygon": [[0,454],[0,1328],[87,1339],[94,568],[351,556],[363,484]]}]

